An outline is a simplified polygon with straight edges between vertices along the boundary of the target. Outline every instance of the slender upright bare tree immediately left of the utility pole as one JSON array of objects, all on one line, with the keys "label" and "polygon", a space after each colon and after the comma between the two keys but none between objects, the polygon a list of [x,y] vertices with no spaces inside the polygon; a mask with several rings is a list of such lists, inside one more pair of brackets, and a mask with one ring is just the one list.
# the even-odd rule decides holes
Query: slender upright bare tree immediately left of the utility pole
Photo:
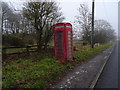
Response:
[{"label": "slender upright bare tree immediately left of the utility pole", "polygon": [[79,15],[75,17],[75,25],[77,25],[77,30],[80,30],[83,35],[83,40],[90,43],[90,30],[91,30],[91,20],[92,15],[86,4],[80,4],[78,8]]}]

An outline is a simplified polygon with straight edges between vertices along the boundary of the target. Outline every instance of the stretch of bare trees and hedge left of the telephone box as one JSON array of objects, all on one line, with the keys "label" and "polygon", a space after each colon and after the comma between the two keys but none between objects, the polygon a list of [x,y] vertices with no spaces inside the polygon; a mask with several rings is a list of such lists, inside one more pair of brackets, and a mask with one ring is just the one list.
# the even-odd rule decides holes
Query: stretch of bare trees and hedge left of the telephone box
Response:
[{"label": "stretch of bare trees and hedge left of the telephone box", "polygon": [[3,46],[37,44],[41,50],[52,39],[53,25],[64,19],[56,2],[27,2],[21,11],[1,4]]}]

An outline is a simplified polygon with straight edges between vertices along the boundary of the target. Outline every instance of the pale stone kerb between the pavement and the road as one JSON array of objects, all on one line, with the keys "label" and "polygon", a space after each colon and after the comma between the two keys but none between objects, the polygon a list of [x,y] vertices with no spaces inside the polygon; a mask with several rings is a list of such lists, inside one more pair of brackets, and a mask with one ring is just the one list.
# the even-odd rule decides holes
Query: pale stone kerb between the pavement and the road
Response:
[{"label": "pale stone kerb between the pavement and the road", "polygon": [[91,88],[93,89],[93,88],[95,87],[95,85],[96,85],[96,83],[97,83],[97,81],[98,81],[98,79],[99,79],[102,71],[103,71],[104,68],[105,68],[105,65],[106,65],[107,61],[109,60],[109,58],[110,58],[110,56],[111,56],[111,54],[112,54],[112,52],[113,52],[113,50],[114,50],[115,44],[114,44],[113,46],[111,46],[111,47],[112,47],[111,53],[104,58],[105,61],[104,61],[103,64],[101,65],[100,70],[98,71],[98,73],[96,74],[94,80],[93,80],[92,83],[90,84],[90,86],[89,86],[90,89],[91,89]]}]

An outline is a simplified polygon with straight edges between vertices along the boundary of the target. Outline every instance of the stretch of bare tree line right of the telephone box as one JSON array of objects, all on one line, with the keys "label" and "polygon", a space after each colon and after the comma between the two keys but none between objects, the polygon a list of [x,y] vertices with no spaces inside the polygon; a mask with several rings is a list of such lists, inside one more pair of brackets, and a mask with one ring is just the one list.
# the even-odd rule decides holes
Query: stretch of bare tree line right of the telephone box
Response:
[{"label": "stretch of bare tree line right of the telephone box", "polygon": [[[86,4],[80,4],[79,14],[75,17],[74,37],[91,44],[92,14]],[[115,30],[109,22],[100,19],[94,22],[94,43],[107,43],[116,39]]]}]

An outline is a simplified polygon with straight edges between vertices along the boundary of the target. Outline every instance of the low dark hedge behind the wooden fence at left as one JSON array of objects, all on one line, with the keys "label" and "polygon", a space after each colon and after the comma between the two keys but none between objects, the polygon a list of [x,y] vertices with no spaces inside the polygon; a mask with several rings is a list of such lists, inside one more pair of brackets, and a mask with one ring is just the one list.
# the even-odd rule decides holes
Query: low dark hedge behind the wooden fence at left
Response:
[{"label": "low dark hedge behind the wooden fence at left", "polygon": [[3,46],[26,46],[36,43],[31,34],[4,34],[2,38]]}]

